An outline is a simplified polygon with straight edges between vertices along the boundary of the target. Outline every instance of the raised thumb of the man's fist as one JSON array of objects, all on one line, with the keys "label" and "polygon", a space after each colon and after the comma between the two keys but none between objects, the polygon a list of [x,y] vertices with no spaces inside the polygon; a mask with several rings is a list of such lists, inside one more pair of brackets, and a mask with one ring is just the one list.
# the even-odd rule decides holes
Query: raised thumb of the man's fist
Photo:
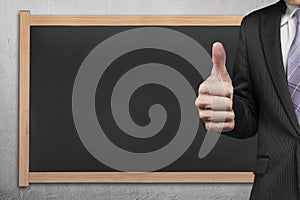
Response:
[{"label": "raised thumb of the man's fist", "polygon": [[212,47],[212,62],[213,69],[211,75],[217,77],[219,80],[231,82],[229,74],[226,70],[226,52],[220,42],[215,42]]}]

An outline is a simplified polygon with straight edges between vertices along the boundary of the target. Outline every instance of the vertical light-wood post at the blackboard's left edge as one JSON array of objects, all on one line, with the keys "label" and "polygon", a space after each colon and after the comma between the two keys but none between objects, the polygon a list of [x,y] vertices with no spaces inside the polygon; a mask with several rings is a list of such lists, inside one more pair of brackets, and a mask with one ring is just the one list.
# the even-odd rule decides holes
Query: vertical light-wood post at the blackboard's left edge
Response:
[{"label": "vertical light-wood post at the blackboard's left edge", "polygon": [[28,186],[29,175],[29,58],[30,12],[20,12],[19,82],[19,186]]}]

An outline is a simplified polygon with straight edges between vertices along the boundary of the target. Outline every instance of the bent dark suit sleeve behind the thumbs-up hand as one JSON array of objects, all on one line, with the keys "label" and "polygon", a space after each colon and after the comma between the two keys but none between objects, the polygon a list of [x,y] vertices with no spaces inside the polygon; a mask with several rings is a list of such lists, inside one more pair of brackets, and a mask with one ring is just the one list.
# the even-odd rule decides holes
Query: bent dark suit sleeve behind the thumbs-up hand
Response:
[{"label": "bent dark suit sleeve behind the thumbs-up hand", "polygon": [[238,52],[235,58],[231,80],[234,87],[233,110],[235,113],[235,128],[230,132],[223,132],[234,138],[245,139],[253,137],[257,132],[257,102],[252,84],[250,66],[248,62],[246,40],[246,18],[242,20],[239,32]]}]

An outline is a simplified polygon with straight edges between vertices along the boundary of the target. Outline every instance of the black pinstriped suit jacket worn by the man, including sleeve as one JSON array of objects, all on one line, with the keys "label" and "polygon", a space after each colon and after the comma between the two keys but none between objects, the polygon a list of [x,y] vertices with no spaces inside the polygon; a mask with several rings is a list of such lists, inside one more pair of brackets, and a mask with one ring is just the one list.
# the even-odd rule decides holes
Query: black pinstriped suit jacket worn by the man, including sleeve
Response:
[{"label": "black pinstriped suit jacket worn by the man, including sleeve", "polygon": [[299,200],[300,128],[280,42],[284,1],[244,17],[232,69],[235,138],[258,134],[251,200]]}]

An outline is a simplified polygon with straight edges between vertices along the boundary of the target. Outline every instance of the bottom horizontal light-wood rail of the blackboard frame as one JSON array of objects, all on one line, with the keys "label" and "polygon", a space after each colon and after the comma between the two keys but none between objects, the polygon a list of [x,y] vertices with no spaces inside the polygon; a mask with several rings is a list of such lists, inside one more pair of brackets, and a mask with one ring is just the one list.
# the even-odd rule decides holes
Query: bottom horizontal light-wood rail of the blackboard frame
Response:
[{"label": "bottom horizontal light-wood rail of the blackboard frame", "polygon": [[252,183],[252,172],[30,172],[30,183]]}]

